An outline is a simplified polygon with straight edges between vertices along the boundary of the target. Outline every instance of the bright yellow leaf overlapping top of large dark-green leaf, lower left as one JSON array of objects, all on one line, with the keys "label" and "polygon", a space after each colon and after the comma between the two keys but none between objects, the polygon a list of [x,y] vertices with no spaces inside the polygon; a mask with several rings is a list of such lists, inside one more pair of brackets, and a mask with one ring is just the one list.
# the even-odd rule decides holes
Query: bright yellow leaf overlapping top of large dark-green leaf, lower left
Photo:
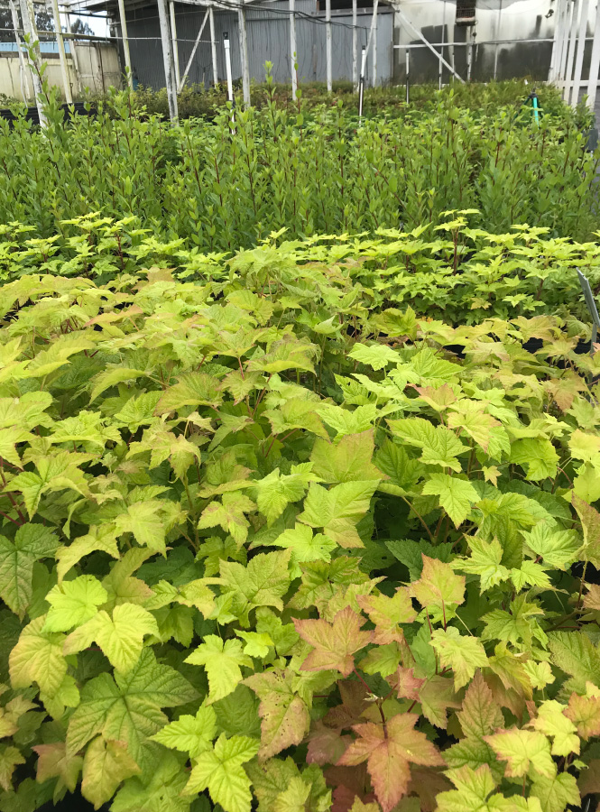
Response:
[{"label": "bright yellow leaf overlapping top of large dark-green leaf, lower left", "polygon": [[103,610],[71,632],[64,642],[63,653],[83,651],[97,641],[111,665],[126,674],[139,660],[146,634],[159,636],[154,615],[137,604],[119,604],[112,617]]}]

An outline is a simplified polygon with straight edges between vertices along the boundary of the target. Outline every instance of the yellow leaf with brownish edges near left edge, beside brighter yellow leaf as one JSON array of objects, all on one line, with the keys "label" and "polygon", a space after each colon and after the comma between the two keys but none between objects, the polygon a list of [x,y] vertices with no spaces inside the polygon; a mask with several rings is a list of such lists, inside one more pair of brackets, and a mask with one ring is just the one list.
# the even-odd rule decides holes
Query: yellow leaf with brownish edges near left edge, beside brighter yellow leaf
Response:
[{"label": "yellow leaf with brownish edges near left edge, beside brighter yellow leaf", "polygon": [[37,682],[40,690],[52,696],[67,673],[62,653],[65,636],[46,632],[45,623],[46,617],[42,615],[25,626],[9,655],[8,668],[13,687],[30,687]]}]

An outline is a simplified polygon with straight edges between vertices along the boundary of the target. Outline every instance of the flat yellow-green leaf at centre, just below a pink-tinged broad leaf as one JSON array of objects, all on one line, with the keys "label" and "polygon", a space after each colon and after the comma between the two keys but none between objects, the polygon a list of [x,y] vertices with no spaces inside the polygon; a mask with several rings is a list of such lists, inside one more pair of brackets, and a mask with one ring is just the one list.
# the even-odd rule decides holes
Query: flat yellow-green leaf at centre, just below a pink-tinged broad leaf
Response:
[{"label": "flat yellow-green leaf at centre, just below a pink-tinged broad leaf", "polygon": [[344,482],[329,490],[311,483],[298,521],[324,528],[325,535],[346,549],[363,547],[356,524],[371,505],[379,480]]}]

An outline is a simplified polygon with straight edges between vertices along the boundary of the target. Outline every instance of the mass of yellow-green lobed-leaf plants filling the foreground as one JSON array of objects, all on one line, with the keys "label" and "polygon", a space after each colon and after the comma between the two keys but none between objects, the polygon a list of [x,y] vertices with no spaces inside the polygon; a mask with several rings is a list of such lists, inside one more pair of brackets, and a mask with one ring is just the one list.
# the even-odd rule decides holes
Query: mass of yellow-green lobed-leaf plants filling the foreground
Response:
[{"label": "mass of yellow-green lobed-leaf plants filling the foreground", "polygon": [[[419,234],[183,257],[91,217],[3,244],[2,812],[600,789],[600,354],[534,292],[595,254],[464,217],[448,285]],[[402,303],[413,262],[448,319]]]}]

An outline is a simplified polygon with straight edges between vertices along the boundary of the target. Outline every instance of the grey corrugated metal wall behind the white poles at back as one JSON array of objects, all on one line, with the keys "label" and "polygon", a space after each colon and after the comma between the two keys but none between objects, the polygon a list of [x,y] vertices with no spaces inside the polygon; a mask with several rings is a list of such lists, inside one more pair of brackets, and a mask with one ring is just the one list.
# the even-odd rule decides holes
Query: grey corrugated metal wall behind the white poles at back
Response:
[{"label": "grey corrugated metal wall behind the white poles at back", "polygon": [[[290,81],[290,16],[287,2],[276,2],[267,9],[246,8],[246,32],[248,38],[248,60],[250,76],[256,81],[264,80],[264,63],[273,63],[272,74],[275,81]],[[302,81],[326,80],[326,26],[324,14],[316,11],[315,0],[296,0],[296,10],[301,14],[313,15],[307,19],[300,14],[296,20],[298,43],[298,75]],[[177,38],[180,53],[180,72],[188,64],[206,10],[201,6],[176,5]],[[366,44],[372,12],[359,10],[358,59],[360,49]],[[239,49],[239,29],[237,14],[224,11],[215,12],[217,36],[217,61],[219,79],[225,78],[225,52],[223,32],[229,33],[231,41],[231,61],[234,79],[242,76]],[[332,53],[333,78],[352,78],[352,14],[332,12]],[[127,12],[127,28],[130,38],[130,51],[134,76],[146,87],[164,88],[162,67],[161,33],[158,12],[155,5]],[[393,14],[388,6],[380,5],[377,29],[377,80],[389,82],[392,78],[392,30]],[[372,69],[369,60],[369,73]],[[210,51],[210,31],[208,22],[202,32],[196,56],[189,70],[189,84],[213,83],[212,58]]]}]

